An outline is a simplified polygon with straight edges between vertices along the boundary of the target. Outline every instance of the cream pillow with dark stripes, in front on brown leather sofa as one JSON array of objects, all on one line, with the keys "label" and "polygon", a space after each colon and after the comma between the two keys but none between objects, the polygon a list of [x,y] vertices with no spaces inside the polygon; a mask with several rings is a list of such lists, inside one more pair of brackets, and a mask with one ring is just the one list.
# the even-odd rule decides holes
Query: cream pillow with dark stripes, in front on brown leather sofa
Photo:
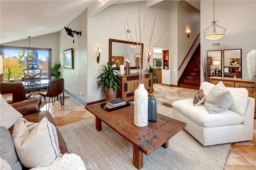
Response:
[{"label": "cream pillow with dark stripes, in front on brown leather sofa", "polygon": [[12,139],[18,158],[26,168],[49,166],[60,154],[56,127],[46,117],[39,123],[18,118]]}]

